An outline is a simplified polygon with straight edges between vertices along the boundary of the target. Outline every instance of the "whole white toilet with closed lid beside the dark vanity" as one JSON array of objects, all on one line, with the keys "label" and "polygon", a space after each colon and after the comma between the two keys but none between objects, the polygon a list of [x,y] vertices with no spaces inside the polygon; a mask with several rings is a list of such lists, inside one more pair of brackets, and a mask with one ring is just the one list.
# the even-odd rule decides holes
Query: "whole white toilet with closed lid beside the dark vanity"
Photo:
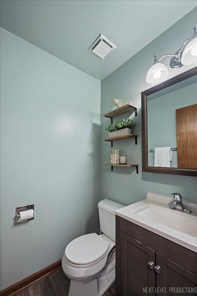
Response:
[{"label": "whole white toilet with closed lid beside the dark vanity", "polygon": [[70,278],[68,296],[101,296],[115,281],[115,211],[122,204],[109,199],[98,203],[102,234],[85,234],[71,241],[62,258]]}]

